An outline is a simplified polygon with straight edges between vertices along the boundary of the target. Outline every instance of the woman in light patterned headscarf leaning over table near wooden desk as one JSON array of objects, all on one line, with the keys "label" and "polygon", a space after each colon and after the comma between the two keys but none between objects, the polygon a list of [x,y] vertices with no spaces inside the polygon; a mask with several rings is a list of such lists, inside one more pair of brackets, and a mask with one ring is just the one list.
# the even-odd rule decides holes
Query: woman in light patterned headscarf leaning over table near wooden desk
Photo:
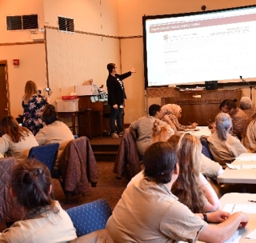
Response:
[{"label": "woman in light patterned headscarf leaning over table near wooden desk", "polygon": [[[186,129],[194,129],[198,123],[194,122],[192,125],[181,125],[178,119],[182,118],[182,108],[176,104],[167,104],[162,106],[162,121],[166,121],[166,117],[175,125],[176,131],[185,131]],[[167,116],[166,116],[167,115]]]}]

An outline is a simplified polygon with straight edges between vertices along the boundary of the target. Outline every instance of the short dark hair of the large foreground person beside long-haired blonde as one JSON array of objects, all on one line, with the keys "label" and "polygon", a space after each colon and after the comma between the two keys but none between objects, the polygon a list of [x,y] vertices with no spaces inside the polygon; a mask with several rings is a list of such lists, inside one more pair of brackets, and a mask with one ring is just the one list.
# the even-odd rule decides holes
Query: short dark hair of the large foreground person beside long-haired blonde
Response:
[{"label": "short dark hair of the large foreground person beside long-haired blonde", "polygon": [[178,163],[175,149],[169,142],[158,141],[150,145],[143,156],[146,177],[157,183],[168,183]]}]

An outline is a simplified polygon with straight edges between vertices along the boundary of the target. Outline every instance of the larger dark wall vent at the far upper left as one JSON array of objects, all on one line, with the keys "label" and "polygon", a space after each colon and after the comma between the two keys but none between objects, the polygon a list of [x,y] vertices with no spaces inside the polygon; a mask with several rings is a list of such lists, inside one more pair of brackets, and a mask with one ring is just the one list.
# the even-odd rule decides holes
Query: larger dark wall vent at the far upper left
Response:
[{"label": "larger dark wall vent at the far upper left", "polygon": [[7,30],[38,29],[38,14],[6,17]]}]

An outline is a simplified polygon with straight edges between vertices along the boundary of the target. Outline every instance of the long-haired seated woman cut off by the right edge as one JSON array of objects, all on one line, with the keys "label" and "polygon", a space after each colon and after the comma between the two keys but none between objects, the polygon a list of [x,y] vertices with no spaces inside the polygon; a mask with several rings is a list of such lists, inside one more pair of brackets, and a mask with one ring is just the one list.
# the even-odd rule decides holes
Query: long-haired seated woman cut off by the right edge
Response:
[{"label": "long-haired seated woman cut off by the right edge", "polygon": [[246,128],[242,133],[242,145],[250,151],[250,153],[256,152],[256,114],[254,114],[248,121]]}]

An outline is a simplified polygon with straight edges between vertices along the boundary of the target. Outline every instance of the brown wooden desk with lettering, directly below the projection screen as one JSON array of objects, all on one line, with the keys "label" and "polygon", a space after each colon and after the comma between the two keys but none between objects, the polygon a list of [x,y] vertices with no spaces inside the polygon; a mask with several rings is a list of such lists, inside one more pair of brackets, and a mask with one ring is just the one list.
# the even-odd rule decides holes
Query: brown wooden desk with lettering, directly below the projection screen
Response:
[{"label": "brown wooden desk with lettering, directly below the projection screen", "polygon": [[208,122],[215,121],[219,113],[219,105],[226,98],[238,99],[237,105],[242,96],[239,89],[223,90],[198,90],[180,91],[178,97],[161,98],[161,106],[166,104],[177,104],[182,107],[182,125],[189,125],[189,122],[197,122],[198,125],[208,125]]}]

